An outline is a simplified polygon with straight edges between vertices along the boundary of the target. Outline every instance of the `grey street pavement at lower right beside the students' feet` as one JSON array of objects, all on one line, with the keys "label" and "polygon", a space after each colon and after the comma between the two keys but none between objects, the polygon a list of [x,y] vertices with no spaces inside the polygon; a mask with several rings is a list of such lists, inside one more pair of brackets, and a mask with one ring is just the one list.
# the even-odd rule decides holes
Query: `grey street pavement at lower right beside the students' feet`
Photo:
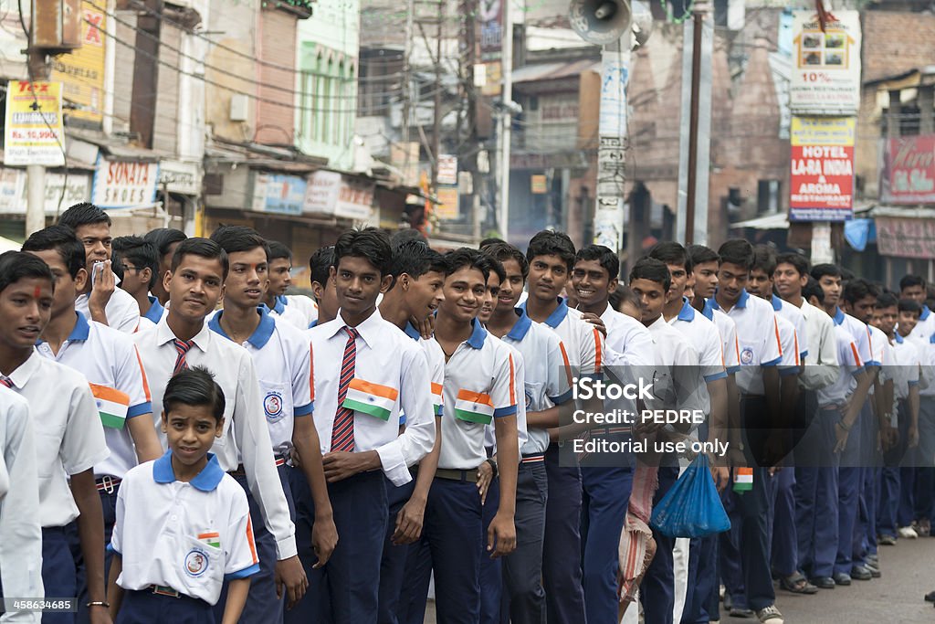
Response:
[{"label": "grey street pavement at lower right beside the students' feet", "polygon": [[[786,624],[932,624],[935,607],[923,596],[935,589],[935,538],[899,540],[880,546],[883,576],[854,581],[849,588],[819,591],[813,596],[776,590],[776,606]],[[429,602],[425,624],[435,623]],[[753,624],[755,619],[723,617],[722,624]]]}]

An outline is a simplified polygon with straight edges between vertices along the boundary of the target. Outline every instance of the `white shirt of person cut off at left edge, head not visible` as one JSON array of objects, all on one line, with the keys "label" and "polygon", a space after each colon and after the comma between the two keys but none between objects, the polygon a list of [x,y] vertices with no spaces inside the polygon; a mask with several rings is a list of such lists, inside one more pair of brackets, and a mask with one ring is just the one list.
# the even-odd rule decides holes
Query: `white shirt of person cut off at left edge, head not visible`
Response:
[{"label": "white shirt of person cut off at left edge, head not visible", "polygon": [[[42,526],[35,433],[29,403],[0,385],[0,464],[11,487],[0,498],[0,584],[7,596],[41,597]],[[7,613],[3,622],[39,624],[39,612]]]}]

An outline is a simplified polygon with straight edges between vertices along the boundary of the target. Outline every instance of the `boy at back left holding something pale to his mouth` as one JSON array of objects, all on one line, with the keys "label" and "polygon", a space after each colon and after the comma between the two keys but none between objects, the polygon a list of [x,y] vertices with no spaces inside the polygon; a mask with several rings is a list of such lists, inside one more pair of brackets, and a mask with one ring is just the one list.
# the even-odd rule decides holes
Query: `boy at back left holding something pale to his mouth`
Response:
[{"label": "boy at back left holding something pale to his mouth", "polygon": [[[84,292],[75,299],[75,310],[102,325],[132,334],[139,326],[139,305],[126,291],[117,288],[110,269],[111,238],[108,213],[87,202],[75,204],[62,213],[58,225],[75,230],[84,245],[88,275]],[[94,266],[99,265],[95,270]]]}]

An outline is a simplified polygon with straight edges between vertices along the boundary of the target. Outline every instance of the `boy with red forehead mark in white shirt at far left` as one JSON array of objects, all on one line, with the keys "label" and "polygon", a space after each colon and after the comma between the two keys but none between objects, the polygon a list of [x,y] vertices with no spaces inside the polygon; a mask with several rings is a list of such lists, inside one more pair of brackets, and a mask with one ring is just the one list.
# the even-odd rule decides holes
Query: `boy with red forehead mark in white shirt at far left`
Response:
[{"label": "boy with red forehead mark in white shirt at far left", "polygon": [[[109,451],[87,380],[36,353],[34,345],[49,323],[53,284],[49,266],[35,255],[0,255],[0,384],[29,401],[36,432],[46,596],[78,595],[75,560],[65,534],[77,518],[91,622],[106,623],[104,521],[94,466]],[[42,620],[71,624],[75,616],[47,612]]]}]

